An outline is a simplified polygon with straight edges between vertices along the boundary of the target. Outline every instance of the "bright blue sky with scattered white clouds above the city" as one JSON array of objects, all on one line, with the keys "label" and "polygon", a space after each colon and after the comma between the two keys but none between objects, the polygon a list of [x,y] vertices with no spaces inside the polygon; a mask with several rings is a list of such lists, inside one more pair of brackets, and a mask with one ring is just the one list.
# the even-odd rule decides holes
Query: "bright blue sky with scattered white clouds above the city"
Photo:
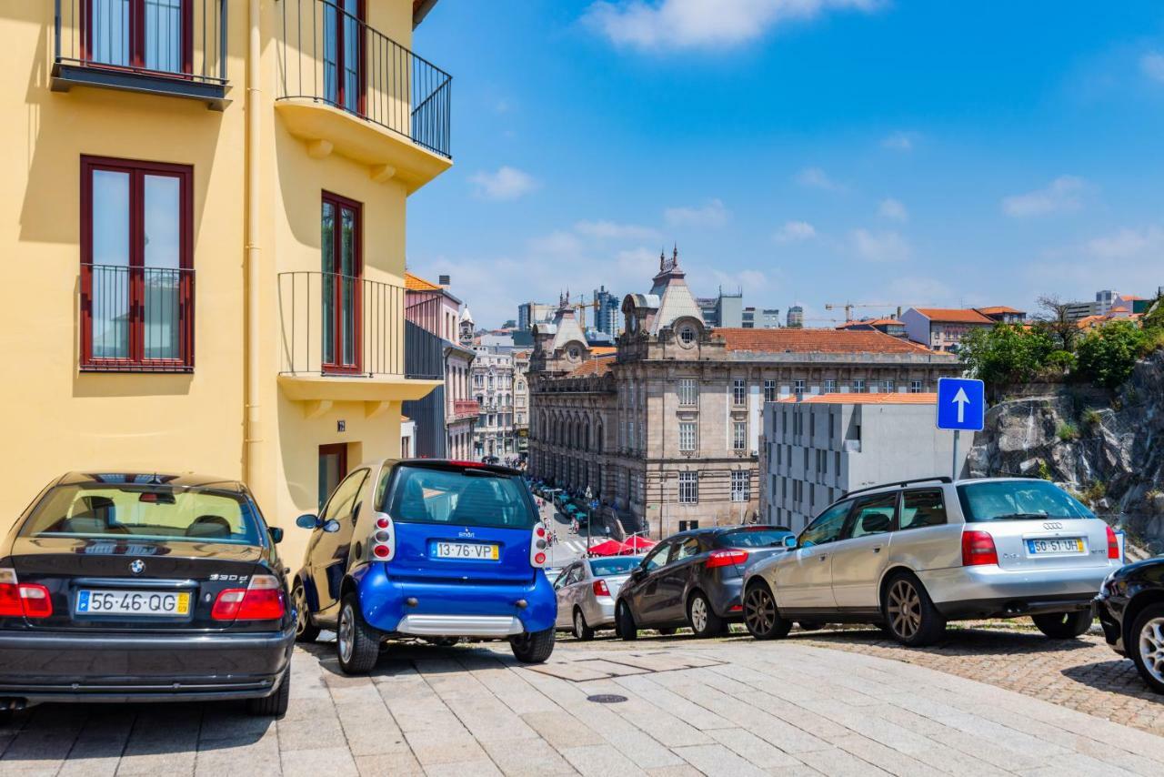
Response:
[{"label": "bright blue sky with scattered white clouds above the city", "polygon": [[445,0],[413,47],[455,164],[409,267],[478,324],[645,291],[673,242],[810,318],[1164,284],[1164,3]]}]

